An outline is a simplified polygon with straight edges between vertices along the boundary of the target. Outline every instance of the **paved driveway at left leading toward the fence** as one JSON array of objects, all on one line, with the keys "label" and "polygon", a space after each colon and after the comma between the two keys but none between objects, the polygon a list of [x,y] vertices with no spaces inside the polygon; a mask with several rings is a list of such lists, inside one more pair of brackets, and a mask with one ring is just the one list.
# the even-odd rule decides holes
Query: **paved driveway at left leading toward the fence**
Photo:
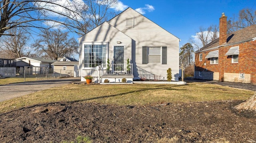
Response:
[{"label": "paved driveway at left leading toward the fence", "polygon": [[26,94],[30,94],[48,88],[63,86],[72,82],[80,81],[78,78],[59,78],[53,80],[38,80],[31,82],[20,82],[14,84],[0,85],[0,102],[9,100]]}]

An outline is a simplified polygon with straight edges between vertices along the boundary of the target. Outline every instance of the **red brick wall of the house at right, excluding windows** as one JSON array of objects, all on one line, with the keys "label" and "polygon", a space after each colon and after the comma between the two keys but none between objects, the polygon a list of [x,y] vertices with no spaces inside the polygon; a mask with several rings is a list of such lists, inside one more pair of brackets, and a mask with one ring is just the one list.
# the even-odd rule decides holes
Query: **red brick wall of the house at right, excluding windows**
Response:
[{"label": "red brick wall of the house at right, excluding windows", "polygon": [[[225,56],[230,47],[239,46],[238,63],[232,63],[231,56]],[[215,51],[217,49],[211,50]],[[219,72],[219,79],[224,80],[225,73],[245,73],[251,74],[251,83],[256,84],[256,41],[244,42],[236,45],[224,46],[219,48],[219,63],[210,64],[210,60],[205,59],[210,51],[195,54],[195,71]],[[199,61],[199,54],[202,53],[203,60]],[[206,61],[205,61],[206,60]],[[206,62],[206,66],[204,63]]]}]

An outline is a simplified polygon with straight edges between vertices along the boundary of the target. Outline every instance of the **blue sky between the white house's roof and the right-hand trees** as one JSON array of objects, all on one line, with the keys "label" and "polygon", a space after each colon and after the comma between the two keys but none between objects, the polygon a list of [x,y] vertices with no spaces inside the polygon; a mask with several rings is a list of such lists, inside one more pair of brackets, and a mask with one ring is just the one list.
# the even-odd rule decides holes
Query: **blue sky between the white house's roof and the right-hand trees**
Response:
[{"label": "blue sky between the white house's roof and the right-hand trees", "polygon": [[[256,9],[256,0],[119,0],[136,10],[144,8],[144,16],[180,38],[180,47],[196,35],[199,27],[219,25],[222,12],[228,18],[243,8]],[[148,10],[148,6],[154,10]]]}]

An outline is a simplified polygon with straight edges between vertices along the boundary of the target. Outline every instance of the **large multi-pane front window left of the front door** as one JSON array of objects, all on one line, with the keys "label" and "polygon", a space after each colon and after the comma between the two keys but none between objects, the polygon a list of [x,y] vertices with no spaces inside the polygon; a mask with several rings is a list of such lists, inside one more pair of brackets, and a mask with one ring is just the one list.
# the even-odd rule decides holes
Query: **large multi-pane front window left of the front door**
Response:
[{"label": "large multi-pane front window left of the front door", "polygon": [[84,67],[106,63],[106,45],[84,45]]}]

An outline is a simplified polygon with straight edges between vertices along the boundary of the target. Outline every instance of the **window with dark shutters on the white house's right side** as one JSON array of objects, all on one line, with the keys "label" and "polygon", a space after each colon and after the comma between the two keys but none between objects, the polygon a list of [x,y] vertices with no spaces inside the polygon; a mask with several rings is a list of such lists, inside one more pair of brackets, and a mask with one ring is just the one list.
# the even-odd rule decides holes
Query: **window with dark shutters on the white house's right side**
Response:
[{"label": "window with dark shutters on the white house's right side", "polygon": [[167,47],[142,47],[142,64],[148,63],[167,64]]}]

